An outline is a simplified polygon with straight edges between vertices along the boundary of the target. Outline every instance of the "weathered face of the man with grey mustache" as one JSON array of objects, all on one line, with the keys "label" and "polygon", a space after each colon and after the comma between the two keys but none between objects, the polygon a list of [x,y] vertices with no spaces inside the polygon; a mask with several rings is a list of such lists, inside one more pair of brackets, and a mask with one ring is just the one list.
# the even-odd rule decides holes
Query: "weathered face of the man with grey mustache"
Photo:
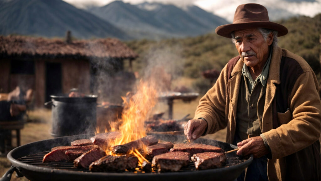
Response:
[{"label": "weathered face of the man with grey mustache", "polygon": [[270,33],[265,41],[257,28],[237,30],[235,34],[235,47],[243,62],[248,67],[262,71],[269,56],[269,45],[273,42]]}]

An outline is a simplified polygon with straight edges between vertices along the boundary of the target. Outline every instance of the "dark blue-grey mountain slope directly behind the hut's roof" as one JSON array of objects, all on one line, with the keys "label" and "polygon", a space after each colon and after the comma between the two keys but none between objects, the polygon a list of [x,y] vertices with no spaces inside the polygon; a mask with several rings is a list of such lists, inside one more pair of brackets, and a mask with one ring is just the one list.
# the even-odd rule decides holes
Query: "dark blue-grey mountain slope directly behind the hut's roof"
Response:
[{"label": "dark blue-grey mountain slope directly behind the hut's roof", "polygon": [[62,0],[0,1],[0,34],[64,37],[67,30],[77,38],[130,39],[114,25]]}]

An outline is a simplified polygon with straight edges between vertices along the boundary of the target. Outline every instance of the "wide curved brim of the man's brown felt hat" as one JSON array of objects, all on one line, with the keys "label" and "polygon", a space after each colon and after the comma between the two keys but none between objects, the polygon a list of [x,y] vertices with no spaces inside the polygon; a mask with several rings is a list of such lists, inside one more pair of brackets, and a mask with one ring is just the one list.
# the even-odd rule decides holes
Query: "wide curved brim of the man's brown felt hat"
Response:
[{"label": "wide curved brim of the man's brown felt hat", "polygon": [[245,22],[245,23],[233,23],[233,24],[225,24],[218,26],[215,29],[216,34],[221,35],[226,38],[232,38],[231,33],[235,30],[243,30],[249,28],[267,28],[270,30],[278,31],[278,36],[281,37],[288,33],[288,29],[275,22]]}]

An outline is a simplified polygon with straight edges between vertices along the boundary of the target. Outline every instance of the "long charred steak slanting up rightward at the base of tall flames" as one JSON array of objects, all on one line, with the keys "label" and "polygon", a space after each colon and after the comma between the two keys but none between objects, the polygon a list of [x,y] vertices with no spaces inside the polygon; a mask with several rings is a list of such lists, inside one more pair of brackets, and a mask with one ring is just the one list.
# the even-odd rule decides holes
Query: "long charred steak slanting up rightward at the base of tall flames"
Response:
[{"label": "long charred steak slanting up rightward at the base of tall flames", "polygon": [[112,151],[115,154],[126,154],[131,150],[142,149],[143,146],[150,146],[152,144],[156,144],[157,142],[158,140],[154,136],[147,135],[143,138],[140,138],[138,140],[135,140],[126,144],[112,146]]}]

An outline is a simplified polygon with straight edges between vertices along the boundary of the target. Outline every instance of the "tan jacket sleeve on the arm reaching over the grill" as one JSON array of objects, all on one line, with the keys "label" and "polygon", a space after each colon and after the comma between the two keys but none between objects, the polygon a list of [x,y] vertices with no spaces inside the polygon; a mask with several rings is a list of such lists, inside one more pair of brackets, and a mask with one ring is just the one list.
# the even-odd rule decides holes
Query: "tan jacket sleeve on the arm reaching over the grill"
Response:
[{"label": "tan jacket sleeve on the arm reaching over the grill", "polygon": [[200,99],[194,119],[203,117],[208,127],[205,134],[213,134],[226,127],[225,105],[227,91],[227,65],[223,68],[214,86]]}]

